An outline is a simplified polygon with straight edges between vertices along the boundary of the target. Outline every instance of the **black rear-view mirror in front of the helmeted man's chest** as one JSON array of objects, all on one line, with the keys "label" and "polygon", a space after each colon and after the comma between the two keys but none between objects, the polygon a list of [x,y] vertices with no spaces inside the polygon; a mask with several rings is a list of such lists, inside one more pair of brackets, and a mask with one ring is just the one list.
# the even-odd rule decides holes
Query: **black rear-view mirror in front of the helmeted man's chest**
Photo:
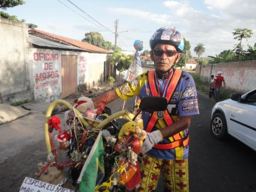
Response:
[{"label": "black rear-view mirror in front of the helmeted man's chest", "polygon": [[139,108],[142,111],[154,112],[165,111],[167,108],[167,99],[165,97],[144,96],[141,99]]}]

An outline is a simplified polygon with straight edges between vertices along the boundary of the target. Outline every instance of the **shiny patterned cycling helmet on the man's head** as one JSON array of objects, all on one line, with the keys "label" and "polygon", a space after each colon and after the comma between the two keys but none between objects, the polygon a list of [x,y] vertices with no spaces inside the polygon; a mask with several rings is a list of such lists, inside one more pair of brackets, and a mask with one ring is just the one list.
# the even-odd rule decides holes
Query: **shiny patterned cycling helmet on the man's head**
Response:
[{"label": "shiny patterned cycling helmet on the man's head", "polygon": [[183,37],[175,27],[161,27],[157,29],[149,40],[151,50],[153,50],[158,43],[170,44],[179,52],[184,48]]}]

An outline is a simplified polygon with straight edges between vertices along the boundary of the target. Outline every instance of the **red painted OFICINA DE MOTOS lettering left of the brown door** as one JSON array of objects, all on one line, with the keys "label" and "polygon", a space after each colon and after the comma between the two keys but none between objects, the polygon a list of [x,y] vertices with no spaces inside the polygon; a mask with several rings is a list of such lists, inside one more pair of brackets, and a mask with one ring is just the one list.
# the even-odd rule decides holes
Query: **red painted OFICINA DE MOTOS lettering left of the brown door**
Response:
[{"label": "red painted OFICINA DE MOTOS lettering left of the brown door", "polygon": [[35,89],[58,84],[59,73],[55,70],[55,62],[59,61],[58,53],[34,52],[33,59],[39,61],[43,69],[35,73]]}]

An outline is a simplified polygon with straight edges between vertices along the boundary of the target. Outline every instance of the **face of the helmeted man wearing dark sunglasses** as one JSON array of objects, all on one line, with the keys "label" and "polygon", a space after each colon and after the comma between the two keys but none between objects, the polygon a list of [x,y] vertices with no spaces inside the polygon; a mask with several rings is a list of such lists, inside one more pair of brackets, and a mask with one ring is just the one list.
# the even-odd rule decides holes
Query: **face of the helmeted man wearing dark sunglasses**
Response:
[{"label": "face of the helmeted man wearing dark sunglasses", "polygon": [[[174,46],[168,45],[168,44],[156,44],[154,49],[162,49],[164,51],[166,50],[176,51]],[[154,61],[155,67],[158,71],[167,71],[173,66],[174,62],[177,63],[179,61],[181,57],[181,53],[176,53],[172,57],[167,56],[166,53],[163,53],[161,56],[157,56],[151,50],[150,57],[151,57],[151,60]],[[176,58],[177,60],[175,61]]]}]

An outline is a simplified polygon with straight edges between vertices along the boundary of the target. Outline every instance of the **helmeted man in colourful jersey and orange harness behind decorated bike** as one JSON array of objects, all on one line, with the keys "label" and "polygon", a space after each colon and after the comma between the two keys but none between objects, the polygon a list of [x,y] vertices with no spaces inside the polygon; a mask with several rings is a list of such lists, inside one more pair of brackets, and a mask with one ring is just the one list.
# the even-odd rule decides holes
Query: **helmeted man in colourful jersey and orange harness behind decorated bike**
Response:
[{"label": "helmeted man in colourful jersey and orange harness behind decorated bike", "polygon": [[[188,153],[191,115],[199,114],[195,82],[189,73],[173,69],[181,57],[183,38],[175,28],[162,27],[150,39],[150,56],[155,70],[147,71],[110,91],[108,102],[132,96],[166,97],[166,111],[143,111],[148,132],[142,146],[141,186],[138,192],[157,188],[163,172],[165,191],[189,191]],[[95,107],[104,96],[94,100]]]}]

